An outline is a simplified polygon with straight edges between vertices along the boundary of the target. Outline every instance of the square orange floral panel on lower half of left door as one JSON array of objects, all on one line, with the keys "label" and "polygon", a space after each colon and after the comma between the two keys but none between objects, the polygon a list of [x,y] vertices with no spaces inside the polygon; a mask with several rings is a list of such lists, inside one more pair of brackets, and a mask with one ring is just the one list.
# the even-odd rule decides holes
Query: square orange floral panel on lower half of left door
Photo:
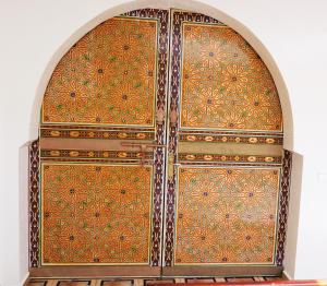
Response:
[{"label": "square orange floral panel on lower half of left door", "polygon": [[152,167],[43,164],[43,264],[149,264]]}]

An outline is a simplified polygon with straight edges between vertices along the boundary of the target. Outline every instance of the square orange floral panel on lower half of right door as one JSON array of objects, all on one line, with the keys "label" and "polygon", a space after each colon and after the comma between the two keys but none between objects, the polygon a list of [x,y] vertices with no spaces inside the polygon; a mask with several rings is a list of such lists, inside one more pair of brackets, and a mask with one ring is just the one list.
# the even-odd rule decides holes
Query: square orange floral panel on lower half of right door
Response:
[{"label": "square orange floral panel on lower half of right door", "polygon": [[179,170],[174,264],[272,264],[278,168]]}]

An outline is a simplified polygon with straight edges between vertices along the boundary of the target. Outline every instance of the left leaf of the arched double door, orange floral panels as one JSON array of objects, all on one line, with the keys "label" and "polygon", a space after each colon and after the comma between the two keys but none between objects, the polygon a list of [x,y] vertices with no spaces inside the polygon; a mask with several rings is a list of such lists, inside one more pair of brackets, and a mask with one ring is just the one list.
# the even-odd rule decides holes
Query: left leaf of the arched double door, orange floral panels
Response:
[{"label": "left leaf of the arched double door, orange floral panels", "polygon": [[43,103],[33,266],[160,274],[167,25],[159,10],[110,19],[57,65]]}]

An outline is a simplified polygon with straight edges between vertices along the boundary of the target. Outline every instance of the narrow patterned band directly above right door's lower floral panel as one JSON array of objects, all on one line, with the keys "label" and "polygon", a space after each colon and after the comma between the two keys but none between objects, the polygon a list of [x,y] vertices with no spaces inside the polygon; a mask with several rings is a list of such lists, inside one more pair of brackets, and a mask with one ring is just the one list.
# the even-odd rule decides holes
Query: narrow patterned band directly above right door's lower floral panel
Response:
[{"label": "narrow patterned band directly above right door's lower floral panel", "polygon": [[254,155],[217,155],[217,154],[179,154],[179,162],[223,162],[223,163],[249,163],[280,165],[281,156],[254,156]]}]

